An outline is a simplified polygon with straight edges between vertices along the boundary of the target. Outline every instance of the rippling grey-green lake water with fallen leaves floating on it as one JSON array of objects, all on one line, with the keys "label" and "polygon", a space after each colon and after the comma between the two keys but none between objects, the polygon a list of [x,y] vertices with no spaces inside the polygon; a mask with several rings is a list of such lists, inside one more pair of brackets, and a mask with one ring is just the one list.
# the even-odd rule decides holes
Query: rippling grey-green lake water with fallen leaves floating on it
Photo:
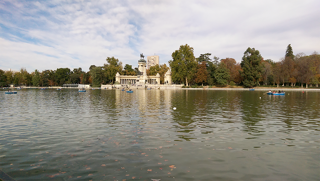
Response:
[{"label": "rippling grey-green lake water with fallen leaves floating on it", "polygon": [[0,169],[16,180],[320,178],[318,91],[18,91],[0,94]]}]

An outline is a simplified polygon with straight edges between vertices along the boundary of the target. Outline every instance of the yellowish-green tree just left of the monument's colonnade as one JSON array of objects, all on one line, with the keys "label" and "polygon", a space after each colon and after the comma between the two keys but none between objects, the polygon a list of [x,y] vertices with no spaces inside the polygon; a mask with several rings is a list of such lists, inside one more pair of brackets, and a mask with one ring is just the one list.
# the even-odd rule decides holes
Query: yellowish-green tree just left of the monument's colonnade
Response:
[{"label": "yellowish-green tree just left of the monument's colonnade", "polygon": [[106,61],[108,63],[103,65],[106,70],[106,76],[113,84],[116,81],[116,73],[122,71],[122,62],[115,57],[107,57]]}]

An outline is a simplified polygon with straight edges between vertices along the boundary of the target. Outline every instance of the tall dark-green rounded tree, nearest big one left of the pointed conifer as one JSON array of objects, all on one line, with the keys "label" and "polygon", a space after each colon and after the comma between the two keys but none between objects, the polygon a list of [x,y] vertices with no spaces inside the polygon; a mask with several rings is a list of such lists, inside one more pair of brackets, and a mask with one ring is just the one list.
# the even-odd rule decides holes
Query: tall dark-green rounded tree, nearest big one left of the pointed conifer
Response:
[{"label": "tall dark-green rounded tree, nearest big one left of the pointed conifer", "polygon": [[242,72],[241,76],[243,78],[243,84],[246,87],[252,87],[255,84],[259,84],[259,79],[261,76],[263,65],[261,63],[262,56],[258,50],[254,48],[247,48],[242,57],[240,63]]}]

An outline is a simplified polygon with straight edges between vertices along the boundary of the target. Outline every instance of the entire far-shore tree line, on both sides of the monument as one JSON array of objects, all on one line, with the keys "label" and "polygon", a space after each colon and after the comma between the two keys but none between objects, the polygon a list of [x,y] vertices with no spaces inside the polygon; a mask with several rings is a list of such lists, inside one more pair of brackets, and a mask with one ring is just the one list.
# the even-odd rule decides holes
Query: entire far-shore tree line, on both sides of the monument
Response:
[{"label": "entire far-shore tree line, on both sides of the monument", "polygon": [[[148,76],[160,74],[160,84],[164,84],[164,74],[171,69],[172,82],[196,86],[243,85],[252,86],[316,86],[320,82],[320,55],[315,51],[311,55],[293,54],[292,47],[287,46],[285,56],[278,62],[264,59],[255,48],[248,47],[242,61],[237,63],[233,58],[220,59],[211,53],[195,57],[193,47],[181,45],[172,53],[169,67],[166,64],[155,65],[147,70]],[[118,84],[116,72],[121,75],[137,76],[141,72],[132,65],[125,64],[115,57],[107,57],[103,66],[91,65],[88,72],[81,67],[73,69],[35,70],[31,73],[25,68],[20,72],[0,70],[0,86],[10,84],[19,86],[61,86],[63,84],[90,84],[100,87],[101,84]]]}]

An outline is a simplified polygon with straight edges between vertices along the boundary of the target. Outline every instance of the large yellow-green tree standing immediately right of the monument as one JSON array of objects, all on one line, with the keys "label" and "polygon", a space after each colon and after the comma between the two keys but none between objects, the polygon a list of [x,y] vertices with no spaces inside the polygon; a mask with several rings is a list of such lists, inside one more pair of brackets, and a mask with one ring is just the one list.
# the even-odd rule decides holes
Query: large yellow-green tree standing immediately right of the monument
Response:
[{"label": "large yellow-green tree standing immediately right of the monument", "polygon": [[186,86],[188,86],[188,79],[194,78],[197,67],[193,48],[187,44],[181,45],[179,50],[172,53],[172,60],[169,61],[169,65],[172,73],[172,81],[185,81]]}]

